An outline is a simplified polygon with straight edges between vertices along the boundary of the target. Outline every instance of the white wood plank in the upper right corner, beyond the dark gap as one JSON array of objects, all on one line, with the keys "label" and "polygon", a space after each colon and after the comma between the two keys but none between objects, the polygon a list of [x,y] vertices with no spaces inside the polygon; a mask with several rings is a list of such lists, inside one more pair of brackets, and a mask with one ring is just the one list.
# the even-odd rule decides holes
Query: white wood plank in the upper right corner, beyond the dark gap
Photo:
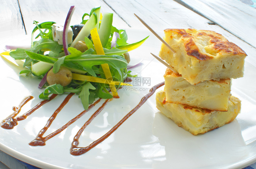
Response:
[{"label": "white wood plank in the upper right corner, beyond the dark gap", "polygon": [[238,0],[175,0],[256,47],[256,9]]}]

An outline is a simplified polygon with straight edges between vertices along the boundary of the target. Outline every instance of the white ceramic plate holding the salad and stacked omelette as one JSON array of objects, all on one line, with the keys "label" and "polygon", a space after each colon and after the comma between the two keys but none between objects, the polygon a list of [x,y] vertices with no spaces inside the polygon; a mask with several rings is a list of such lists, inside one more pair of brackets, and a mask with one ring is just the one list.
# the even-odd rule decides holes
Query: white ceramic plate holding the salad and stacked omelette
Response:
[{"label": "white ceramic plate holding the salad and stacked omelette", "polygon": [[[130,42],[151,35],[140,48],[130,52],[134,61],[143,59],[132,71],[138,74],[141,81],[142,77],[150,78],[151,84],[141,82],[138,86],[121,89],[120,99],[111,101],[82,133],[79,147],[88,146],[109,131],[139,103],[149,88],[164,80],[165,67],[150,54],[158,54],[160,41],[146,30],[127,29],[127,33]],[[37,78],[20,76],[20,69],[2,58],[0,65],[0,120],[3,120],[25,96],[35,98],[22,108],[20,115],[34,107],[41,101],[38,95],[42,90],[37,88],[40,82]],[[71,142],[101,104],[46,141],[46,146],[29,146],[29,142],[35,139],[67,95],[63,94],[27,119],[19,121],[14,129],[0,128],[0,149],[40,168],[242,168],[256,162],[256,68],[253,65],[246,61],[245,76],[232,82],[232,95],[242,100],[241,113],[232,123],[203,135],[194,136],[162,115],[155,107],[154,94],[111,136],[85,154],[72,156],[69,153]],[[158,91],[161,89],[163,87]],[[60,128],[82,110],[78,96],[74,95],[44,136]]]}]

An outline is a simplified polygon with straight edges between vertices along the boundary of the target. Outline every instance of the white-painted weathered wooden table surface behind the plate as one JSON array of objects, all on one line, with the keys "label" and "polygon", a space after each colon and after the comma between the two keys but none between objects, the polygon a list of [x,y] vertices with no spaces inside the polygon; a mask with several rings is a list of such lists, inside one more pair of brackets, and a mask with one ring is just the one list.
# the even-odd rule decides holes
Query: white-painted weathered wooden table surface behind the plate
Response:
[{"label": "white-painted weathered wooden table surface behind the plate", "polygon": [[[0,5],[1,46],[10,37],[30,35],[34,20],[63,23],[70,6],[75,5],[71,25],[77,24],[85,12],[101,6],[101,12],[114,14],[113,25],[119,29],[145,29],[135,13],[156,31],[166,28],[216,31],[246,51],[248,62],[256,63],[256,9],[239,0],[0,0]],[[14,161],[9,157],[4,161],[5,156],[2,152],[1,161],[14,168]]]}]

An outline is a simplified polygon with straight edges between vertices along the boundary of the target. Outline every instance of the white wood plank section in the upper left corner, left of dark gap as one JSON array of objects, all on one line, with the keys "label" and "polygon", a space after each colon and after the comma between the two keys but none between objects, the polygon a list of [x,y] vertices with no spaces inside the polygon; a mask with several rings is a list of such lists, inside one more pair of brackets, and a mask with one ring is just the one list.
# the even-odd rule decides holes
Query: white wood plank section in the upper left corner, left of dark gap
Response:
[{"label": "white wood plank section in the upper left corner, left of dark gap", "polygon": [[6,38],[25,34],[24,25],[17,0],[0,0],[0,39],[1,44]]}]

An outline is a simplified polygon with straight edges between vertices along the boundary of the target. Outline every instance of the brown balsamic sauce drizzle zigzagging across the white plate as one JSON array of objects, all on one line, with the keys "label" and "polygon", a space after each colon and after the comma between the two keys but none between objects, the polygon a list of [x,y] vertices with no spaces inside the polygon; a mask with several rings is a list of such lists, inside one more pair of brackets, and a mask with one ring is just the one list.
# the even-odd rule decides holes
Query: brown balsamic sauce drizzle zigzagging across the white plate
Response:
[{"label": "brown balsamic sauce drizzle zigzagging across the white plate", "polygon": [[[156,86],[153,86],[149,93],[146,94],[141,101],[139,102],[139,104],[132,109],[127,115],[124,116],[124,118],[122,120],[120,120],[113,128],[110,129],[110,131],[108,131],[106,134],[104,134],[101,138],[99,138],[96,141],[93,141],[89,146],[87,147],[78,147],[79,144],[79,137],[81,136],[82,132],[84,131],[84,129],[86,128],[86,126],[88,124],[90,124],[90,122],[104,109],[104,107],[107,105],[108,102],[110,102],[111,100],[113,100],[113,98],[111,99],[106,99],[105,102],[102,104],[101,107],[99,107],[98,110],[96,110],[96,112],[93,113],[93,115],[88,119],[87,122],[85,122],[85,124],[82,126],[82,128],[80,128],[80,130],[77,132],[77,134],[74,136],[74,139],[72,141],[71,144],[71,148],[70,148],[70,154],[71,155],[81,155],[84,154],[86,152],[88,152],[90,149],[92,149],[93,147],[95,147],[96,145],[98,145],[99,143],[101,143],[102,141],[104,141],[105,139],[107,139],[107,137],[109,137],[118,127],[121,126],[122,123],[124,123],[125,120],[127,120],[136,110],[138,110],[138,108],[140,108],[145,102],[146,100],[152,96],[152,94],[154,94],[154,92],[160,88],[161,86],[164,85],[164,82],[157,84]],[[74,123],[77,119],[79,119],[80,117],[82,117],[82,115],[84,115],[86,112],[88,112],[89,110],[91,110],[96,104],[98,104],[102,99],[98,99],[97,101],[95,101],[93,104],[91,104],[88,107],[88,110],[84,110],[82,111],[79,115],[77,115],[75,118],[73,118],[72,120],[70,120],[68,123],[66,123],[65,125],[63,125],[61,128],[59,128],[58,130],[54,131],[53,133],[49,134],[46,137],[43,137],[43,134],[47,131],[47,129],[50,127],[51,123],[53,122],[53,120],[56,118],[57,114],[62,110],[62,108],[68,103],[69,99],[74,95],[74,93],[70,93],[68,94],[68,96],[66,96],[66,98],[64,99],[64,101],[62,102],[62,104],[57,108],[57,110],[55,110],[55,112],[53,113],[53,115],[48,119],[46,125],[40,130],[40,132],[38,133],[37,137],[35,140],[31,141],[29,143],[30,146],[44,146],[45,142],[48,139],[51,139],[52,137],[56,136],[57,134],[59,134],[60,132],[62,132],[65,128],[67,128],[69,125],[71,125],[72,123]],[[35,110],[37,110],[38,108],[40,108],[41,106],[43,106],[43,104],[51,101],[52,99],[54,99],[57,96],[57,94],[53,94],[51,95],[51,97],[49,98],[49,100],[43,100],[42,102],[38,103],[35,107],[33,107],[31,110],[29,110],[28,112],[24,113],[24,115],[19,116],[15,119],[15,116],[18,115],[18,113],[21,111],[21,108],[27,103],[29,102],[29,100],[33,99],[32,96],[28,96],[26,97],[19,105],[19,107],[13,107],[13,114],[11,114],[9,117],[7,117],[6,119],[4,119],[0,125],[2,128],[5,129],[12,129],[15,125],[18,125],[18,121],[19,120],[24,120],[27,118],[27,116],[29,116],[30,114],[32,114],[32,112],[34,112]]]}]

